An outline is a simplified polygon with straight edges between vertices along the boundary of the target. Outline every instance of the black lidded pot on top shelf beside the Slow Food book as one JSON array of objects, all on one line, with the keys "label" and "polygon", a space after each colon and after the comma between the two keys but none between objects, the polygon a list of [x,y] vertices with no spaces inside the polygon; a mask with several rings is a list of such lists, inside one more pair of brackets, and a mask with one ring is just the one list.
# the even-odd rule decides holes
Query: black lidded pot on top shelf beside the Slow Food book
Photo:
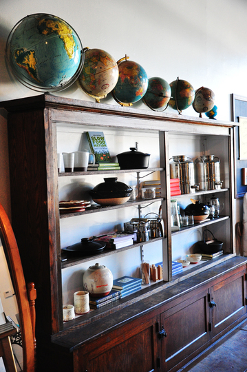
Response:
[{"label": "black lidded pot on top shelf beside the Slow Food book", "polygon": [[150,154],[137,151],[136,147],[130,147],[130,150],[117,155],[121,169],[144,169],[149,167]]}]

